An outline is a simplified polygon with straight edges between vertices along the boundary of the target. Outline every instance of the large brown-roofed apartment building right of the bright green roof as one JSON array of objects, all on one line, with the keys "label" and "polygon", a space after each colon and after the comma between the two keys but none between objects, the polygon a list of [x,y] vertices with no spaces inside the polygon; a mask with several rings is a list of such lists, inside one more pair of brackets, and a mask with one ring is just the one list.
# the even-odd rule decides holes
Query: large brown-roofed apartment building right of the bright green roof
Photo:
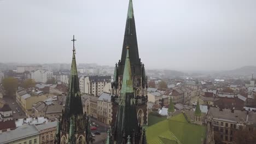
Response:
[{"label": "large brown-roofed apartment building right of the bright green roof", "polygon": [[234,143],[237,130],[256,131],[256,113],[253,111],[229,110],[211,107],[207,122],[213,125],[214,136],[220,137],[225,144]]}]

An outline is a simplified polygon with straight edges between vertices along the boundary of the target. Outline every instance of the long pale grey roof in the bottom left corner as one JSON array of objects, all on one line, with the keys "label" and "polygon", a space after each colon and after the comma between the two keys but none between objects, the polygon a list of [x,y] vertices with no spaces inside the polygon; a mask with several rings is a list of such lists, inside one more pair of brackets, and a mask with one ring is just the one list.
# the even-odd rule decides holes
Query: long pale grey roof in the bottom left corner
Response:
[{"label": "long pale grey roof in the bottom left corner", "polygon": [[6,131],[0,134],[0,143],[9,143],[25,137],[30,137],[34,135],[39,136],[39,134],[40,133],[35,125],[24,125],[23,127],[19,127],[14,130]]}]

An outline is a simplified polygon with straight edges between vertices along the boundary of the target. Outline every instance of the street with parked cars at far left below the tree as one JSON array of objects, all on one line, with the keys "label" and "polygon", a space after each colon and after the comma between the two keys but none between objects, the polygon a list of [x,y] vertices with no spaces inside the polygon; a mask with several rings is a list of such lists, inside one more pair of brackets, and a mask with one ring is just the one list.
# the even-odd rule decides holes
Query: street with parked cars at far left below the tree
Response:
[{"label": "street with parked cars at far left below the tree", "polygon": [[[5,101],[5,103],[9,104],[11,110],[15,111],[15,113],[13,113],[13,119],[27,118],[24,111],[22,111],[21,107],[16,103],[16,100],[9,97],[4,97],[3,100]],[[16,107],[18,107],[20,112],[16,111]],[[20,113],[21,113],[21,116],[20,116]]]}]

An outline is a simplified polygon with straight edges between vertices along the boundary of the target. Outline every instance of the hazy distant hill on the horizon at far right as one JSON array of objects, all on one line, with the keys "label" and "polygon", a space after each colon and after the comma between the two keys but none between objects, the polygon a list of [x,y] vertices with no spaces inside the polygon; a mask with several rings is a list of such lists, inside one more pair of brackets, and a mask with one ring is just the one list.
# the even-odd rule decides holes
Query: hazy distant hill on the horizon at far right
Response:
[{"label": "hazy distant hill on the horizon at far right", "polygon": [[242,68],[237,68],[233,70],[221,71],[219,74],[222,75],[242,75],[249,76],[254,74],[256,76],[256,66],[245,66]]}]

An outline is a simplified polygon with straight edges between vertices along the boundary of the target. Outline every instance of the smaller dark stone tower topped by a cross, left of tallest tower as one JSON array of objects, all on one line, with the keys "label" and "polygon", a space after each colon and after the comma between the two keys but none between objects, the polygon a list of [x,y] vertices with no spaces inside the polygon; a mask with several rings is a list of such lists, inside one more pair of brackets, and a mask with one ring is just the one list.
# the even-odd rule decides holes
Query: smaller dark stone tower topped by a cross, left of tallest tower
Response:
[{"label": "smaller dark stone tower topped by a cross, left of tallest tower", "polygon": [[[58,144],[84,144],[91,140],[88,131],[89,117],[83,113],[81,94],[79,90],[79,79],[77,74],[77,64],[75,62],[75,49],[73,38],[73,58],[68,83],[68,94],[66,98],[65,110],[57,123],[55,143]],[[87,132],[87,133],[86,133]]]}]

